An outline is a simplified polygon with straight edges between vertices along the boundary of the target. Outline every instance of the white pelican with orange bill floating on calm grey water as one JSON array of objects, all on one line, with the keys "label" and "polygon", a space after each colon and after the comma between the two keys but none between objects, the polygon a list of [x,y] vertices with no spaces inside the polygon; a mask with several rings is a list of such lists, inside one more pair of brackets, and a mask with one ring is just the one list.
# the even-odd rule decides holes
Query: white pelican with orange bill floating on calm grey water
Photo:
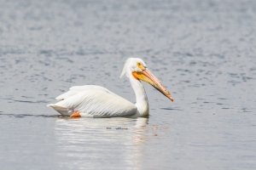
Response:
[{"label": "white pelican with orange bill floating on calm grey water", "polygon": [[129,58],[120,77],[126,76],[131,82],[136,95],[136,104],[95,85],[74,86],[69,88],[65,94],[61,94],[55,99],[59,100],[55,104],[48,106],[61,113],[62,116],[80,117],[140,117],[148,116],[148,98],[141,82],[148,82],[154,88],[164,94],[173,102],[170,92],[148,71],[143,59]]}]

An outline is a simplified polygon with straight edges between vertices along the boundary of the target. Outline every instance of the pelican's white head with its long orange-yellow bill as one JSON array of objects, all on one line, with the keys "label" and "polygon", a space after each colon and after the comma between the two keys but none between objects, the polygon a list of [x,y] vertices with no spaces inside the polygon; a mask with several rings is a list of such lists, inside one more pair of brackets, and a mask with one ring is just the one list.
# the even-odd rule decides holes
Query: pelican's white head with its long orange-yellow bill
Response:
[{"label": "pelican's white head with its long orange-yellow bill", "polygon": [[147,65],[143,59],[139,58],[129,58],[125,61],[125,65],[120,77],[123,76],[131,77],[137,79],[138,81],[148,82],[161,94],[164,94],[168,99],[173,102],[171,93],[161,84],[161,82],[154,77],[154,75],[148,70]]}]

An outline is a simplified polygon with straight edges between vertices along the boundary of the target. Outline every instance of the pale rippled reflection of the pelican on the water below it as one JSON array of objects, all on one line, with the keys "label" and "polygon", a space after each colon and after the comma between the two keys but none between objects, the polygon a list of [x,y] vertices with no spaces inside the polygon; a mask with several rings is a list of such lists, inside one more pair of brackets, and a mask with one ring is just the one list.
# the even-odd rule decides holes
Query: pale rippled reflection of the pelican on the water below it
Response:
[{"label": "pale rippled reflection of the pelican on the water below it", "polygon": [[[59,167],[120,166],[140,169],[148,118],[58,118],[55,122]],[[124,167],[125,165],[125,167]]]}]

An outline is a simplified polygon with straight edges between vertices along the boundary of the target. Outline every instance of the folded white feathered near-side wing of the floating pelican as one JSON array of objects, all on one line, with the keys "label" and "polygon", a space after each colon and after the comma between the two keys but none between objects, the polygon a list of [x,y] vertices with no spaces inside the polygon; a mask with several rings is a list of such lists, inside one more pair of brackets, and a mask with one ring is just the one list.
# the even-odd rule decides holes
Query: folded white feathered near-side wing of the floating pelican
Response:
[{"label": "folded white feathered near-side wing of the floating pelican", "polygon": [[68,116],[73,111],[80,111],[82,116],[92,117],[132,116],[137,113],[136,105],[113,94],[107,88],[96,87],[89,90],[89,88],[73,87],[70,89],[72,91],[79,89],[79,91],[69,94],[56,104],[49,105],[56,111],[61,108],[59,111],[61,115]]}]

